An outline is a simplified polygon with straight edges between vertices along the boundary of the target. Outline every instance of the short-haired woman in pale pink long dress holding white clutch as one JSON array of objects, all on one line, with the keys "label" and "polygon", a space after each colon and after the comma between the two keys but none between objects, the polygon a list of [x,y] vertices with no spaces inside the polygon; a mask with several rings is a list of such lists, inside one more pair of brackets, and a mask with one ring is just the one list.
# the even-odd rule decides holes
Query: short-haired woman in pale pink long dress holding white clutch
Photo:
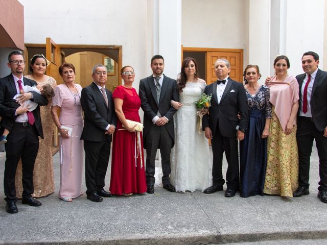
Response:
[{"label": "short-haired woman in pale pink long dress holding white clutch", "polygon": [[[60,133],[60,189],[59,198],[72,202],[81,195],[83,172],[83,130],[81,106],[82,87],[75,84],[75,67],[63,63],[59,74],[64,81],[55,88],[52,100],[52,118]],[[58,110],[60,115],[58,117]]]}]

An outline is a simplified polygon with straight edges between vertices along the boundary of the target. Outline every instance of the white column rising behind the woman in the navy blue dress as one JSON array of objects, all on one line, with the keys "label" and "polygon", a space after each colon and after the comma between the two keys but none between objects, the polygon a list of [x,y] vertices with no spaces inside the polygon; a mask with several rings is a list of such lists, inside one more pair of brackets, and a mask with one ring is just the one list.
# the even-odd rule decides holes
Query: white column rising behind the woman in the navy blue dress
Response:
[{"label": "white column rising behind the woman in the navy blue dress", "polygon": [[[276,0],[274,0],[276,1]],[[244,66],[259,65],[263,78],[270,73],[270,0],[249,0],[248,57]],[[264,79],[259,80],[261,83]]]}]

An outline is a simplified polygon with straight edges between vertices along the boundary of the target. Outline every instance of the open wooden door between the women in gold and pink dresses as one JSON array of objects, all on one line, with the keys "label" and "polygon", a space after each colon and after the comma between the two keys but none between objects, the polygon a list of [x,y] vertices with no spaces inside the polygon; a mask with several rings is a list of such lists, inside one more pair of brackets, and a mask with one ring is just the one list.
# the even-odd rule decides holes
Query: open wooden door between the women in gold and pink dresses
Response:
[{"label": "open wooden door between the women in gold and pink dresses", "polygon": [[[62,79],[59,75],[59,66],[64,62],[64,54],[61,52],[60,46],[57,45],[50,37],[45,39],[45,57],[50,61],[50,65],[46,68],[46,75],[56,79],[57,84],[61,84]],[[53,153],[59,150],[59,136],[57,127],[54,128],[53,137]]]}]

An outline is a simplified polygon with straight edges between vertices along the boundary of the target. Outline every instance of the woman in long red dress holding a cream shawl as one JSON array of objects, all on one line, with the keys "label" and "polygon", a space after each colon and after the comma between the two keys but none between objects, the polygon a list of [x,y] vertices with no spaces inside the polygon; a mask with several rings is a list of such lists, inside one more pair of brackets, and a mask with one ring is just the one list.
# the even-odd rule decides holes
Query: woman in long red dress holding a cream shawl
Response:
[{"label": "woman in long red dress holding a cream shawl", "polygon": [[135,130],[136,124],[130,125],[127,122],[127,119],[141,121],[138,115],[141,100],[132,87],[135,78],[133,67],[124,66],[121,76],[124,85],[116,87],[112,94],[119,121],[113,134],[109,190],[111,194],[129,196],[146,192],[147,183],[142,132]]}]

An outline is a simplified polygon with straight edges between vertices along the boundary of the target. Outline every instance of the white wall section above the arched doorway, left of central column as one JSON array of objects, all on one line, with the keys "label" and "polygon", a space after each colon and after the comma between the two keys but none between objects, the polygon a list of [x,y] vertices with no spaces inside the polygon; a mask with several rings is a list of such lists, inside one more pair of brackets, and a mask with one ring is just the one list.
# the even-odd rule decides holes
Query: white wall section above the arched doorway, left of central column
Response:
[{"label": "white wall section above the arched doorway, left of central column", "polygon": [[139,79],[150,74],[147,1],[19,2],[24,5],[26,43],[45,43],[51,37],[60,44],[122,45],[123,66],[134,67],[137,90]]}]

